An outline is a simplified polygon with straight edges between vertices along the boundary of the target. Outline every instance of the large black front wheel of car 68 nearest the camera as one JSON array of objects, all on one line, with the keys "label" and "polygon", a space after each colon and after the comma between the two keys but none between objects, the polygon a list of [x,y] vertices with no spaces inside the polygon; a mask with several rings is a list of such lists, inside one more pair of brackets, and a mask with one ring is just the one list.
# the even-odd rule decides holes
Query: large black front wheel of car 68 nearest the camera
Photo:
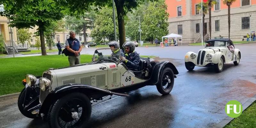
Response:
[{"label": "large black front wheel of car 68 nearest the camera", "polygon": [[[81,114],[80,117],[74,119],[71,116],[72,111],[77,112],[78,117]],[[51,111],[48,112],[48,123],[52,128],[65,128],[66,124],[70,123],[72,123],[70,127],[84,128],[91,113],[92,105],[89,98],[83,93],[74,92],[61,97],[52,104]]]}]

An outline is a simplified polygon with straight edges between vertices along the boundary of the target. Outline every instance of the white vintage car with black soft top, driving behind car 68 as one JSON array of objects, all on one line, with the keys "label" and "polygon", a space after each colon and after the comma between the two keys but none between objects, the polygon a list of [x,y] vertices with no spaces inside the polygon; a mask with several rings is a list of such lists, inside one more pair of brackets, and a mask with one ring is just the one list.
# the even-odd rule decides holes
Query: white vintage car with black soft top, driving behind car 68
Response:
[{"label": "white vintage car with black soft top, driving behind car 68", "polygon": [[[229,47],[234,47],[229,50]],[[232,51],[232,52],[231,52]],[[205,48],[195,52],[187,52],[185,55],[185,66],[191,71],[195,66],[210,67],[214,66],[216,72],[221,72],[224,63],[234,63],[238,65],[241,59],[241,52],[236,49],[230,39],[212,39],[205,42]]]}]

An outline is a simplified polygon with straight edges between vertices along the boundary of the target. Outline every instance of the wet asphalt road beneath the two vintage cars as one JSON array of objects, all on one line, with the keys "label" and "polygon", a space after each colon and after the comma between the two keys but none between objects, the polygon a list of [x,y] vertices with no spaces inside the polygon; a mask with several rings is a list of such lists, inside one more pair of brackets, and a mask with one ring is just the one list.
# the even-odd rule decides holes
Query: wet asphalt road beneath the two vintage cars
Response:
[{"label": "wet asphalt road beneath the two vintage cars", "polygon": [[[225,64],[221,73],[213,68],[195,67],[188,72],[184,56],[202,46],[138,47],[140,55],[172,58],[179,71],[169,95],[162,96],[155,86],[130,92],[130,97],[112,97],[92,107],[90,128],[194,128],[215,127],[226,117],[229,100],[244,104],[256,94],[256,43],[235,45],[241,50],[238,66]],[[85,51],[86,50],[86,51]],[[95,49],[83,49],[83,54]],[[0,127],[47,128],[48,123],[23,116],[17,98],[3,100],[0,105]]]}]

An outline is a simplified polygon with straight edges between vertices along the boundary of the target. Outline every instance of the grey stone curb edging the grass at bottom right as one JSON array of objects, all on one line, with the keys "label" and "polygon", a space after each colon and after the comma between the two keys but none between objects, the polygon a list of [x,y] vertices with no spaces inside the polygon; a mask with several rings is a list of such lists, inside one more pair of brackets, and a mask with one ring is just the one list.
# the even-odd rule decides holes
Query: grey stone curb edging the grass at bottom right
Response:
[{"label": "grey stone curb edging the grass at bottom right", "polygon": [[[243,105],[244,110],[248,108],[254,101],[256,101],[256,94],[251,97],[249,100],[247,100]],[[244,111],[243,110],[243,111]],[[225,127],[229,122],[231,122],[235,118],[231,118],[229,116],[226,116],[225,119],[222,119],[217,125],[216,128],[223,128]]]}]

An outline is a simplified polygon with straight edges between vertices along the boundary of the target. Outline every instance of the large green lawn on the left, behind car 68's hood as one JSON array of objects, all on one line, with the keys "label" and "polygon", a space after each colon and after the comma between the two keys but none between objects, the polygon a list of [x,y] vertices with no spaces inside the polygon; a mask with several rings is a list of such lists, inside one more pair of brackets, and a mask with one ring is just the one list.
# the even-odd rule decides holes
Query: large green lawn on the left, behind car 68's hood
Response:
[{"label": "large green lawn on the left, behind car 68's hood", "polygon": [[[81,63],[90,62],[92,55],[81,55]],[[69,66],[68,57],[62,55],[0,58],[0,95],[20,92],[26,74],[42,76],[49,68]]]}]

